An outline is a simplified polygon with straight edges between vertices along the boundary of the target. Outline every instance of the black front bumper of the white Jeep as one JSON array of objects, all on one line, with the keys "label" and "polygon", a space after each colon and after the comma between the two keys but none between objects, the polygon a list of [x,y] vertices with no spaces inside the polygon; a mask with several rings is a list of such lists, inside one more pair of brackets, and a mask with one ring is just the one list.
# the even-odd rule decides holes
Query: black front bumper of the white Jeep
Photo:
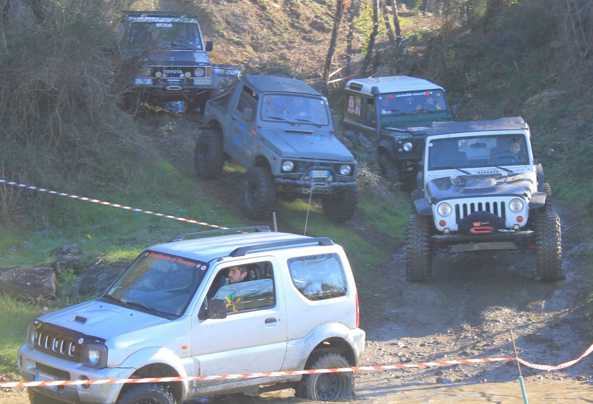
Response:
[{"label": "black front bumper of the white Jeep", "polygon": [[488,235],[434,235],[431,245],[436,252],[470,252],[493,250],[531,250],[534,231],[503,232]]}]

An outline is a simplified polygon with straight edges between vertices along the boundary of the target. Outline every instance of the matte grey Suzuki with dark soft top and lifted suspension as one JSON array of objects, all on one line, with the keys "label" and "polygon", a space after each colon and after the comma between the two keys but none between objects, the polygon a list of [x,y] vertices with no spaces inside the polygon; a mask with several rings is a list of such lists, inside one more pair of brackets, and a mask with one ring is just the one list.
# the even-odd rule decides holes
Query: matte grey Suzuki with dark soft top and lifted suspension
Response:
[{"label": "matte grey Suzuki with dark soft top and lifted suspension", "polygon": [[268,216],[276,195],[319,198],[339,222],[354,214],[358,164],[334,136],[326,97],[304,81],[245,75],[206,103],[203,121],[196,172],[217,178],[225,160],[245,167],[239,192],[248,217]]}]

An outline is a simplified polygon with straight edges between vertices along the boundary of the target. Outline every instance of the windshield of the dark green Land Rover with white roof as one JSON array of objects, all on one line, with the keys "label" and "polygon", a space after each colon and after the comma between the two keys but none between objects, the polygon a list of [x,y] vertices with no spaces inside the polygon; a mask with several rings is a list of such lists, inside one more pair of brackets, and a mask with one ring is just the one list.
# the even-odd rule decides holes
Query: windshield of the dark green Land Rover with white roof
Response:
[{"label": "windshield of the dark green Land Rover with white roof", "polygon": [[447,111],[447,101],[442,90],[380,94],[376,97],[375,105],[379,115]]}]

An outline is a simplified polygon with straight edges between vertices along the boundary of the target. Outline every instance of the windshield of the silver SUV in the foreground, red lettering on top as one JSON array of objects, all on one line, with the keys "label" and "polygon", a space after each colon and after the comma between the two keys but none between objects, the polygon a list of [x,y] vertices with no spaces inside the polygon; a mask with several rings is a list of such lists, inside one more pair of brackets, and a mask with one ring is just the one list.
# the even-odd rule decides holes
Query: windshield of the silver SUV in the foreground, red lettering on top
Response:
[{"label": "windshield of the silver SUV in the foreground, red lettering on top", "polygon": [[161,317],[183,314],[206,273],[206,263],[145,251],[101,299]]}]

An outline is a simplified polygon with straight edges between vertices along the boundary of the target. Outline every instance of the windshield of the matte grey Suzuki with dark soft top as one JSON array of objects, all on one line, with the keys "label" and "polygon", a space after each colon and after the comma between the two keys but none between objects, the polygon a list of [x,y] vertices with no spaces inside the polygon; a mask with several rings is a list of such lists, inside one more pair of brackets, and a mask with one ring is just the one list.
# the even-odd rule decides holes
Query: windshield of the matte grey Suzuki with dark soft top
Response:
[{"label": "windshield of the matte grey Suzuki with dark soft top", "polygon": [[320,97],[266,94],[260,116],[263,121],[291,124],[327,126],[330,122],[326,102]]}]

